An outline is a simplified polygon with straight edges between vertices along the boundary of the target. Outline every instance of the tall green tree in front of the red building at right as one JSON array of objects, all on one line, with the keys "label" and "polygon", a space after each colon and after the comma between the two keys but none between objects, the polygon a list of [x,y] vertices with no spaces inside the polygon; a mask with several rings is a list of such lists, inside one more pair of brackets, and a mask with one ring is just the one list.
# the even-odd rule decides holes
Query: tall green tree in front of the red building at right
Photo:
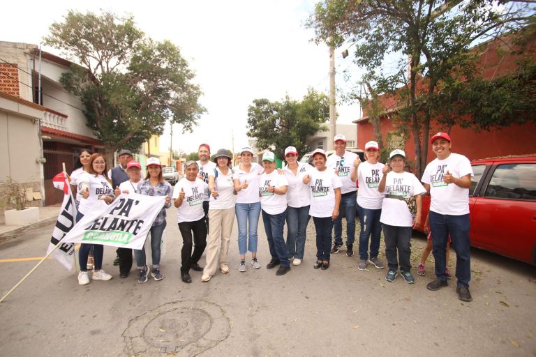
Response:
[{"label": "tall green tree in front of the red building at right", "polygon": [[[357,43],[355,63],[396,89],[399,105],[393,115],[401,132],[413,136],[416,170],[422,174],[431,118],[441,114],[432,100],[440,84],[474,72],[471,45],[525,26],[533,8],[478,0],[325,0],[308,26],[318,42]],[[394,59],[399,60],[393,65]]]}]

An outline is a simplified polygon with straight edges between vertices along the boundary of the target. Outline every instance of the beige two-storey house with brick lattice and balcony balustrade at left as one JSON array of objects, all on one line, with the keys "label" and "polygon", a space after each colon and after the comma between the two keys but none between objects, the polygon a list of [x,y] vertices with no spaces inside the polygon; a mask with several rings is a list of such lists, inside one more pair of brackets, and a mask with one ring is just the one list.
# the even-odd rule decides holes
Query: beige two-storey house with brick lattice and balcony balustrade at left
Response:
[{"label": "beige two-storey house with brick lattice and balcony balustrade at left", "polygon": [[70,174],[80,149],[104,147],[86,126],[80,99],[59,82],[73,63],[37,45],[4,41],[0,59],[0,180],[9,175],[40,192],[43,202],[34,204],[59,203],[63,194],[52,177],[63,164]]}]

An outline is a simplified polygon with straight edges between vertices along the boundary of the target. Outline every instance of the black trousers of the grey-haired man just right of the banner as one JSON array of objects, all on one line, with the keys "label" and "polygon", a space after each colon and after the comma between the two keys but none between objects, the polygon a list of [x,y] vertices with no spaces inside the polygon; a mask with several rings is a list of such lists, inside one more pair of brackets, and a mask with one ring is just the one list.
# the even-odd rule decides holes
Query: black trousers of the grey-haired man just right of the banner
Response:
[{"label": "black trousers of the grey-haired man just right of the banner", "polygon": [[[180,222],[179,230],[182,235],[181,274],[187,274],[190,271],[190,264],[199,261],[207,246],[207,225],[203,217],[195,222]],[[195,248],[192,253],[193,243]]]}]

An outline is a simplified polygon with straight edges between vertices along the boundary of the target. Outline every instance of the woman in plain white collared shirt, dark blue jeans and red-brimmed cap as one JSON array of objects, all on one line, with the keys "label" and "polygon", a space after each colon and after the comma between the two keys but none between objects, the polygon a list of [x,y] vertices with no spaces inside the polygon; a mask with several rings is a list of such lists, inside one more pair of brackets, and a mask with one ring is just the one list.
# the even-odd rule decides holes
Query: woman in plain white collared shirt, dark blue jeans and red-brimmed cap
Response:
[{"label": "woman in plain white collared shirt, dark blue jeans and red-brimmed cap", "polygon": [[314,168],[298,161],[298,151],[294,146],[285,149],[285,161],[287,165],[283,167],[283,172],[288,181],[287,246],[290,259],[294,257],[292,265],[299,265],[304,259],[306,229],[311,219],[311,197],[308,185],[304,184],[304,176]]}]

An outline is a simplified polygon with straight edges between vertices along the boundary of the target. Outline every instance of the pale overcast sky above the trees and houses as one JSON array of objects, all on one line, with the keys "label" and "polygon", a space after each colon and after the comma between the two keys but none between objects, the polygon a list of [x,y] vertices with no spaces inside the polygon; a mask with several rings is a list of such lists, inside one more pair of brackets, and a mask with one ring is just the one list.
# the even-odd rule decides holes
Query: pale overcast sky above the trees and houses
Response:
[{"label": "pale overcast sky above the trees and houses", "polygon": [[[68,9],[132,13],[137,26],[154,40],[171,40],[195,71],[208,113],[192,134],[174,126],[173,149],[197,151],[207,142],[215,153],[247,144],[247,109],[256,98],[301,100],[308,87],[329,93],[329,55],[311,43],[304,22],[315,1],[24,1],[3,3],[0,40],[39,44],[50,24]],[[43,50],[58,54],[56,50]],[[344,70],[356,70],[336,50],[337,86],[348,88]],[[338,123],[359,117],[358,105],[339,105]],[[233,140],[234,137],[234,146]],[[161,138],[168,150],[169,126]]]}]

